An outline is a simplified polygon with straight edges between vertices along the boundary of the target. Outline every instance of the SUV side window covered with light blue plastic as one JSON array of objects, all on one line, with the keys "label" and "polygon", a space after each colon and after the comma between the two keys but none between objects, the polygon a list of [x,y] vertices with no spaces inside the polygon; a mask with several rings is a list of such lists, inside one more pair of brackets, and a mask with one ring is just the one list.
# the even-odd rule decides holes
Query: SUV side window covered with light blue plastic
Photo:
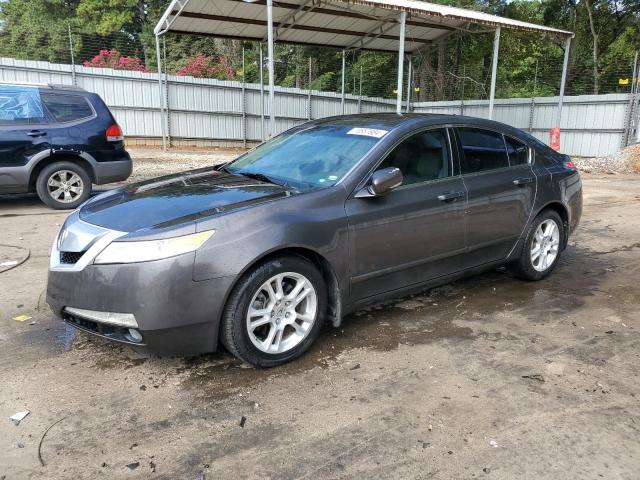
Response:
[{"label": "SUV side window covered with light blue plastic", "polygon": [[0,125],[45,123],[44,117],[37,88],[0,85]]}]

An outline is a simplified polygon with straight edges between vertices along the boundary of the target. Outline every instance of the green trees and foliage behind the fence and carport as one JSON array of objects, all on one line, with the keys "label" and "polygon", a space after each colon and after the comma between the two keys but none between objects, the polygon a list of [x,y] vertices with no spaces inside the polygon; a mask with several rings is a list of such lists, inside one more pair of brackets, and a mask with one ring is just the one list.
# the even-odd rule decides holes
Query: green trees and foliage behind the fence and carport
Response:
[{"label": "green trees and foliage behind the fence and carport", "polygon": [[[567,93],[592,93],[596,75],[600,91],[628,91],[628,87],[618,85],[618,80],[631,75],[633,58],[640,46],[638,0],[590,0],[598,35],[596,65],[585,0],[430,1],[571,30],[576,36],[570,54]],[[92,59],[100,50],[115,49],[123,56],[139,57],[146,67],[155,70],[153,27],[167,4],[168,0],[6,0],[0,2],[0,55],[68,63],[70,29],[78,64]],[[471,30],[485,33],[457,32],[448,36],[444,64],[440,66],[437,45],[412,55],[419,99],[487,97],[493,34],[479,26]],[[184,68],[187,59],[201,54],[210,59],[224,57],[225,66],[236,80],[259,81],[257,43],[180,35],[167,35],[163,38],[165,43],[163,55],[166,54],[170,73]],[[557,94],[562,58],[560,39],[503,29],[497,96]],[[357,95],[361,90],[367,96],[395,96],[395,54],[356,51],[347,52],[346,59],[348,93]],[[339,50],[276,45],[278,85],[338,92],[341,67]],[[266,83],[266,67],[263,80]]]}]

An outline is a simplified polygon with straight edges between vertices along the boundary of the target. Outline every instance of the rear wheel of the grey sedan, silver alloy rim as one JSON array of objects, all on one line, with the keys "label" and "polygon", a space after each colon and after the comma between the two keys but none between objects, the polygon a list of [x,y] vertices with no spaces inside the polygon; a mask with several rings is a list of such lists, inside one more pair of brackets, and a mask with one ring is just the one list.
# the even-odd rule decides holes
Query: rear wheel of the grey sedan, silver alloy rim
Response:
[{"label": "rear wheel of the grey sedan, silver alloy rim", "polygon": [[[560,215],[553,210],[542,211],[531,222],[520,258],[511,265],[513,273],[523,280],[542,280],[558,264],[563,242],[564,224]],[[542,252],[536,256],[534,252],[540,249]]]}]

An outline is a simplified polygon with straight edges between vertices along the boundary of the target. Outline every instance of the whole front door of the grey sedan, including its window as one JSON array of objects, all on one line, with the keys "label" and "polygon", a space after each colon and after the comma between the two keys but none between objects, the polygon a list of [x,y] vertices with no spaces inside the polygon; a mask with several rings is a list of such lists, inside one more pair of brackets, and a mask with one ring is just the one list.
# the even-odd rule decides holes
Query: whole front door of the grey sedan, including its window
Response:
[{"label": "whole front door of the grey sedan, including its window", "polygon": [[376,168],[400,169],[402,186],[381,197],[347,200],[354,300],[460,269],[467,193],[453,165],[447,130],[419,131]]}]

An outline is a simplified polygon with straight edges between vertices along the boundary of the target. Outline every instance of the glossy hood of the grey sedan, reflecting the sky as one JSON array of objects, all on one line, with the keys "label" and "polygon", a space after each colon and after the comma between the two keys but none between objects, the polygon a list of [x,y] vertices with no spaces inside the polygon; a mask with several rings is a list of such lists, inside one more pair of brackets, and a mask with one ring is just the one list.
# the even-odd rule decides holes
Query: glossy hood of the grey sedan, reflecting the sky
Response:
[{"label": "glossy hood of the grey sedan, reflecting the sky", "polygon": [[87,202],[79,214],[94,225],[134,232],[181,225],[291,193],[280,185],[208,167],[113,190]]}]

